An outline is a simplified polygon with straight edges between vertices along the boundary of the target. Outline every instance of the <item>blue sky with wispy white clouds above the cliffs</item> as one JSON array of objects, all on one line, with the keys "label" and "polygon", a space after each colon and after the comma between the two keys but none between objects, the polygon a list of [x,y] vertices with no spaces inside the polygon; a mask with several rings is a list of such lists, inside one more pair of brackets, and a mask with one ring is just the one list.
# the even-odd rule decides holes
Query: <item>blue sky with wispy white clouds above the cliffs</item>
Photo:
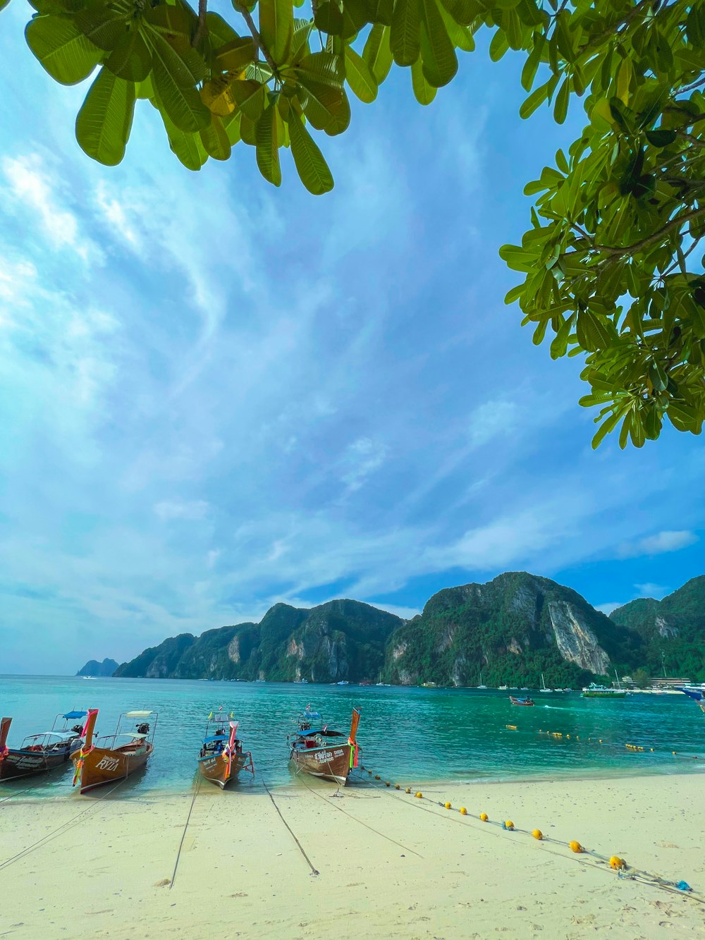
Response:
[{"label": "blue sky with wispy white clouds above the cliffs", "polygon": [[700,441],[593,452],[579,361],[503,303],[497,249],[579,108],[521,121],[521,62],[481,51],[429,108],[408,70],[353,101],[329,196],[242,144],[190,173],[147,102],[106,168],[29,11],[0,29],[0,671],[277,601],[410,616],[527,570],[614,606],[705,571]]}]

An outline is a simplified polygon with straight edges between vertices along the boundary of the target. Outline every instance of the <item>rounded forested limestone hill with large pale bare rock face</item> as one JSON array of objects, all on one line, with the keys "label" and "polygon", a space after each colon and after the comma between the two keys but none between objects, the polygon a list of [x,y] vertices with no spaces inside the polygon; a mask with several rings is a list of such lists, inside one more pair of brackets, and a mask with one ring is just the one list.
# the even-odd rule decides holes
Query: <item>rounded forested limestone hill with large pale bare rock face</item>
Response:
[{"label": "rounded forested limestone hill with large pale bare rock face", "polygon": [[638,637],[569,587],[525,572],[450,587],[399,627],[388,682],[577,687],[631,661]]}]

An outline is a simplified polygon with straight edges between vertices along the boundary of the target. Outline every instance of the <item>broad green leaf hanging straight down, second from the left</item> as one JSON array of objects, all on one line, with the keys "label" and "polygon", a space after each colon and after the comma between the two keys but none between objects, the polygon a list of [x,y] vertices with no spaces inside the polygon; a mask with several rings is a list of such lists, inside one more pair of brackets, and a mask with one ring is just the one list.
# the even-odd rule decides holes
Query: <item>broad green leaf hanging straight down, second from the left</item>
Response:
[{"label": "broad green leaf hanging straight down, second from the left", "polygon": [[89,157],[117,165],[133,126],[134,85],[101,69],[76,118],[76,140]]}]

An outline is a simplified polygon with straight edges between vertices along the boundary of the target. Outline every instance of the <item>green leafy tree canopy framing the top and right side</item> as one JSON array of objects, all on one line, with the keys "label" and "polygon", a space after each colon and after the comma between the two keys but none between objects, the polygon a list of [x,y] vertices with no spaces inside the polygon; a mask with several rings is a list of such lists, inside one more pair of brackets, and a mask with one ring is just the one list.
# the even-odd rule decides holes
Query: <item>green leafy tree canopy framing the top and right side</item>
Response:
[{"label": "green leafy tree canopy framing the top and right side", "polygon": [[242,140],[278,186],[286,147],[323,194],[333,177],[311,130],[347,129],[348,88],[373,102],[397,65],[430,104],[489,30],[493,60],[525,55],[522,118],[549,102],[562,123],[575,97],[587,116],[525,188],[531,227],[500,251],[525,274],[507,302],[554,358],[587,353],[593,446],[619,425],[621,446],[643,446],[666,416],[701,431],[705,0],[219,0],[217,13],[207,2],[30,0],[26,40],[44,69],[64,85],[98,69],[76,118],[88,156],[120,162],[142,99],[189,169]]}]

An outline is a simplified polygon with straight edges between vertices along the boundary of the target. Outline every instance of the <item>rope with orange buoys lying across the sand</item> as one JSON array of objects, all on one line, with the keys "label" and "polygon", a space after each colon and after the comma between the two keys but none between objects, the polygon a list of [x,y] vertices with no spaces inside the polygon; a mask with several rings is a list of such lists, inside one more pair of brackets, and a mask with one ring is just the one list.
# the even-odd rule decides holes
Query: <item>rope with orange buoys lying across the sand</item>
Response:
[{"label": "rope with orange buoys lying across the sand", "polygon": [[[363,770],[367,770],[368,773],[368,782],[378,789],[382,789],[387,795],[394,797],[397,800],[400,800],[401,803],[406,804],[407,806],[412,805],[417,809],[422,809],[424,812],[431,813],[433,816],[438,816],[441,819],[446,819],[450,823],[459,823],[460,825],[468,825],[469,823],[482,823],[483,826],[480,830],[477,830],[477,826],[473,826],[473,831],[482,831],[487,835],[492,835],[495,837],[501,838],[503,833],[516,832],[523,835],[531,836],[540,842],[550,842],[561,848],[568,848],[571,852],[577,856],[589,856],[590,861],[585,857],[575,857],[571,855],[566,855],[563,853],[552,852],[551,849],[545,848],[544,852],[549,852],[556,857],[565,858],[569,861],[576,861],[582,865],[587,865],[589,868],[594,868],[598,870],[607,870],[614,871],[618,878],[621,879],[630,879],[632,881],[638,881],[641,884],[650,885],[651,887],[657,887],[661,890],[668,891],[671,894],[676,894],[683,899],[689,899],[690,901],[696,901],[698,904],[705,905],[705,897],[697,894],[693,888],[687,884],[685,881],[669,881],[666,878],[662,878],[660,875],[651,874],[650,871],[645,871],[642,869],[635,869],[632,866],[627,865],[626,861],[623,858],[620,858],[619,855],[603,855],[599,852],[595,852],[593,849],[586,849],[583,845],[580,844],[577,840],[573,839],[571,842],[565,842],[559,838],[553,838],[551,836],[544,836],[540,829],[522,829],[514,825],[511,820],[504,820],[499,822],[496,820],[491,820],[487,813],[479,813],[477,816],[469,813],[466,807],[458,807],[457,812],[460,817],[448,815],[447,813],[437,812],[436,809],[431,809],[430,807],[425,807],[422,803],[409,804],[408,800],[404,800],[401,796],[400,791],[404,791],[405,794],[413,794],[415,799],[422,801],[424,803],[430,803],[433,807],[442,807],[446,810],[454,810],[454,807],[450,802],[442,802],[441,800],[431,800],[430,797],[424,796],[422,791],[413,791],[411,787],[402,788],[399,783],[393,784],[389,780],[382,780],[382,776],[377,774],[373,775],[372,771],[367,767],[364,767]],[[380,781],[379,783],[377,781]],[[391,791],[391,787],[394,787],[395,791]],[[464,819],[463,819],[464,818]],[[494,828],[491,828],[494,827]]]}]

